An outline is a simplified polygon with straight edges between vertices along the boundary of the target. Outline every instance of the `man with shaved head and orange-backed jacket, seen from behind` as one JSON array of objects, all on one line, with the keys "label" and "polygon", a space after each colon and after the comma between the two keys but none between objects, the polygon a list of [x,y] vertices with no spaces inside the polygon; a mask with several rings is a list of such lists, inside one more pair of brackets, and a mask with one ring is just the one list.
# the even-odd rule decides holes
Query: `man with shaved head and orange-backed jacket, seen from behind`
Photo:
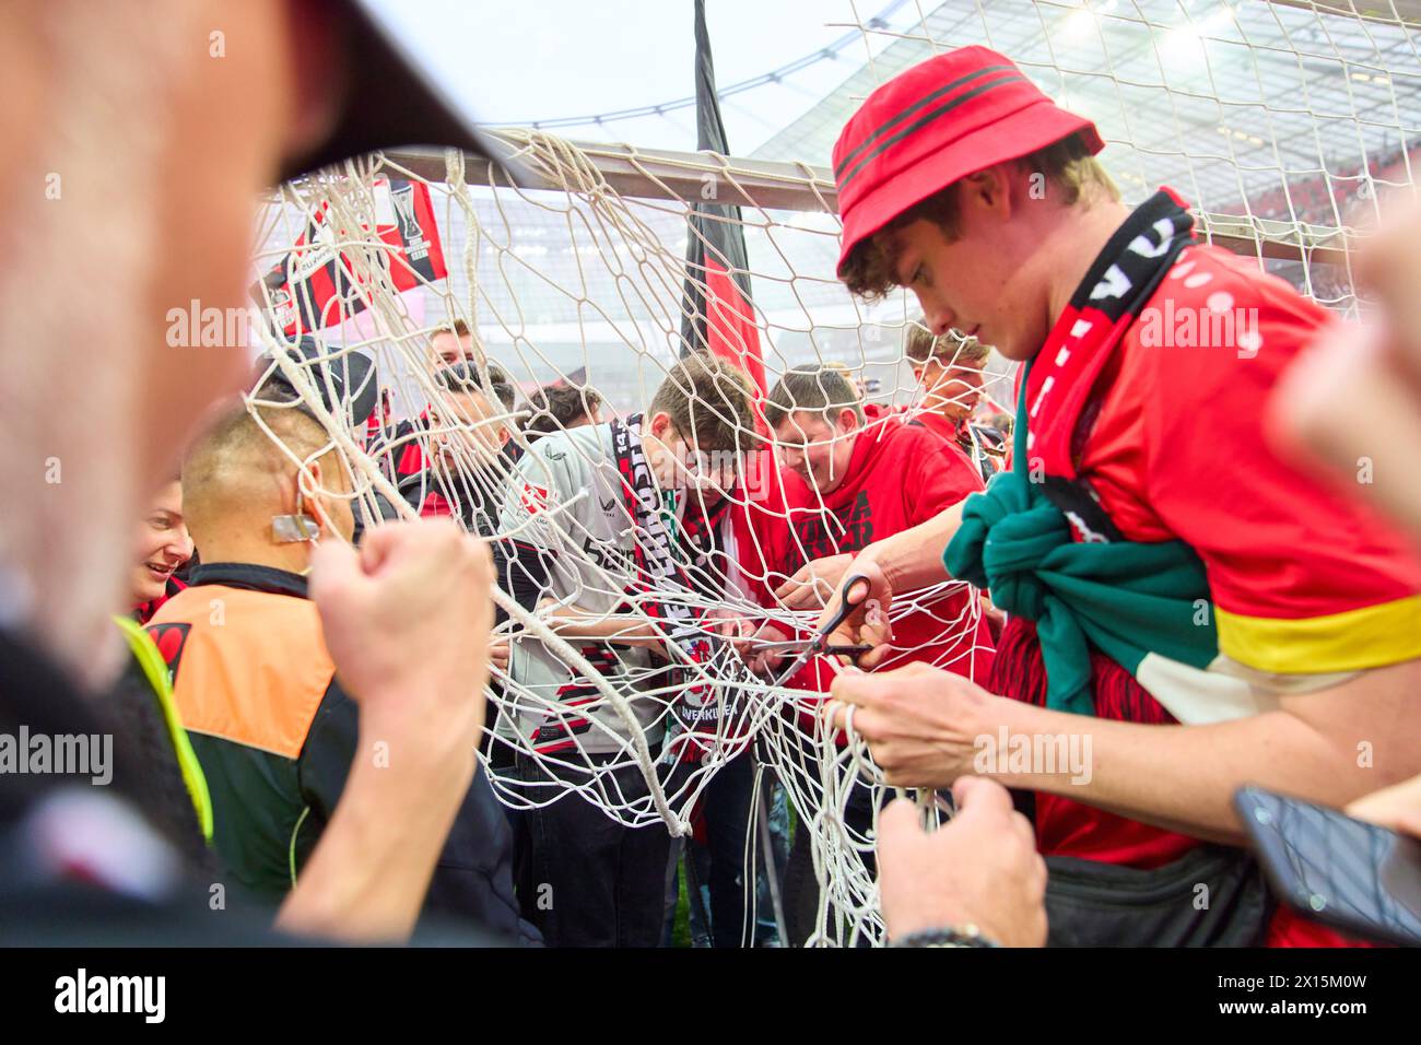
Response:
[{"label": "man with shaved head and orange-backed jacket, seen from behind", "polygon": [[[271,397],[263,390],[254,400]],[[355,520],[350,476],[325,429],[298,401],[253,409],[261,424],[234,409],[183,465],[202,566],[148,628],[207,779],[217,856],[244,890],[276,903],[330,823],[357,758],[358,708],[306,580],[315,543],[348,542]],[[389,754],[375,745],[361,758],[379,765]],[[517,937],[510,862],[507,822],[476,771],[425,910]]]}]

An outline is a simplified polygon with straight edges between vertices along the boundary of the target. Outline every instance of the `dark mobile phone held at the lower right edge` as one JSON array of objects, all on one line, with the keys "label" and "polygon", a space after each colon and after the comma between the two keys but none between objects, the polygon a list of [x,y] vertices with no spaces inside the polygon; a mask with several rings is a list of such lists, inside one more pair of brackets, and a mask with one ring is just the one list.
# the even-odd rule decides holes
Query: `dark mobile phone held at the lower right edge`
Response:
[{"label": "dark mobile phone held at the lower right edge", "polygon": [[1233,796],[1279,900],[1353,936],[1421,947],[1421,840],[1262,788]]}]

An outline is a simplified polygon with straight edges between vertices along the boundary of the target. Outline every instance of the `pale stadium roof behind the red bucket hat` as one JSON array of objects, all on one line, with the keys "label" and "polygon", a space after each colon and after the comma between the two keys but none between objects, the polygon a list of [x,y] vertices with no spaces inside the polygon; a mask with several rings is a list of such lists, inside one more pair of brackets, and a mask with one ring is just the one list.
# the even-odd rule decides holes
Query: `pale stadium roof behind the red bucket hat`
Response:
[{"label": "pale stadium roof behind the red bucket hat", "polygon": [[1211,212],[1337,225],[1368,164],[1383,186],[1415,181],[1421,33],[1259,0],[949,0],[753,155],[828,164],[874,87],[965,44],[1094,119],[1127,198],[1168,183]]}]

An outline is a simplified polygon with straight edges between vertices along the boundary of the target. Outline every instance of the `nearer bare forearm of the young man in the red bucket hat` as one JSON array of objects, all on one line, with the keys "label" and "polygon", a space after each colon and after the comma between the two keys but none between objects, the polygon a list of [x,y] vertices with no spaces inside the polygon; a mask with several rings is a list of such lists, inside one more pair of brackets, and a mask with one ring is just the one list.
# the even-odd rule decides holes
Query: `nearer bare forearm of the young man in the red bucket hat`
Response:
[{"label": "nearer bare forearm of the young man in the red bucket hat", "polygon": [[[1293,698],[1309,700],[1336,698]],[[1418,752],[1403,744],[1388,746],[1384,756],[1378,752],[1378,768],[1358,765],[1357,744],[1364,738],[1357,729],[1331,728],[1292,709],[1211,725],[1141,725],[1003,701],[999,721],[1009,736],[1040,735],[1049,741],[1033,742],[1033,752],[1049,749],[1057,755],[1054,765],[1033,759],[1037,772],[988,773],[1002,783],[1229,843],[1242,842],[1232,799],[1245,783],[1340,806],[1421,769]],[[1363,732],[1374,736],[1378,731]],[[995,731],[985,734],[993,742],[999,739]],[[1061,752],[1067,755],[1064,766]],[[1071,752],[1080,758],[1071,758]],[[1378,772],[1381,761],[1388,766],[1384,773]],[[1003,763],[1010,768],[1007,759],[996,768]],[[1050,768],[1056,772],[1039,772]]]}]

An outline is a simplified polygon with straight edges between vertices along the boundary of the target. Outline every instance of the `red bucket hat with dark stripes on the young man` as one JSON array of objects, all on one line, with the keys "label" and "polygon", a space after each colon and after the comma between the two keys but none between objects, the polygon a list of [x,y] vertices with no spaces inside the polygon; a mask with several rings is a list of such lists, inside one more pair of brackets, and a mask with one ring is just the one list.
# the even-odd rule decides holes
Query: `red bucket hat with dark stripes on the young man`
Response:
[{"label": "red bucket hat with dark stripes on the young man", "polygon": [[1047,98],[1005,54],[959,47],[899,73],[853,115],[834,144],[844,222],[838,269],[860,240],[969,173],[1096,125]]}]

